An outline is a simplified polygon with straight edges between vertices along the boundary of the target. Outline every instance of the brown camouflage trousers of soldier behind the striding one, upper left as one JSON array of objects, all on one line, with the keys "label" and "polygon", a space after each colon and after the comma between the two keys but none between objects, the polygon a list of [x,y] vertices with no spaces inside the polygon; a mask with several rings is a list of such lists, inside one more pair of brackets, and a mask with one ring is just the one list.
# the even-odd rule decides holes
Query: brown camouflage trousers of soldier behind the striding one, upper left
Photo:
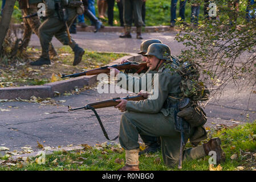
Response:
[{"label": "brown camouflage trousers of soldier behind the striding one, upper left", "polygon": [[[38,12],[37,5],[38,3],[42,2],[42,0],[29,0],[29,8],[22,9],[22,16],[32,15]],[[22,38],[22,48],[26,49],[29,46],[30,38],[32,32],[39,37],[38,28],[40,27],[41,21],[38,16],[33,16],[31,18],[23,18],[24,22],[24,33]],[[49,47],[49,54],[50,56],[55,56],[57,53],[50,43]]]}]

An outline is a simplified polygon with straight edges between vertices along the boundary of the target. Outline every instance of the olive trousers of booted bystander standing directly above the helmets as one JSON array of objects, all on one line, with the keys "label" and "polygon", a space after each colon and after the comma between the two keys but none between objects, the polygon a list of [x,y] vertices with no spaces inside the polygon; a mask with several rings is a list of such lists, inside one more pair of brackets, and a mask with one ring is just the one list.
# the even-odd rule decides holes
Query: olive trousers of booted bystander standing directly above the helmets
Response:
[{"label": "olive trousers of booted bystander standing directly above the helmets", "polygon": [[136,27],[141,27],[143,25],[143,20],[141,17],[141,0],[123,0],[124,6],[124,26],[131,27],[132,21],[134,19],[134,24]]}]

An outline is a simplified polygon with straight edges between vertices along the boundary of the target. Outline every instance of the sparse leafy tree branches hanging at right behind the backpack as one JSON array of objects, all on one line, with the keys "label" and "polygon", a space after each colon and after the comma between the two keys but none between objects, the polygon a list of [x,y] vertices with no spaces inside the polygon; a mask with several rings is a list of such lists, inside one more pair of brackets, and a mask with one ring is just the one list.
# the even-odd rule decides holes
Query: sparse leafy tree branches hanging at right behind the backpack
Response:
[{"label": "sparse leafy tree branches hanging at right behind the backpack", "polygon": [[198,64],[213,96],[230,82],[238,90],[251,86],[251,94],[256,84],[256,2],[247,12],[241,6],[248,1],[239,2],[240,11],[233,0],[212,2],[217,5],[216,18],[204,18],[197,28],[181,27],[176,40],[186,49],[180,58]]}]

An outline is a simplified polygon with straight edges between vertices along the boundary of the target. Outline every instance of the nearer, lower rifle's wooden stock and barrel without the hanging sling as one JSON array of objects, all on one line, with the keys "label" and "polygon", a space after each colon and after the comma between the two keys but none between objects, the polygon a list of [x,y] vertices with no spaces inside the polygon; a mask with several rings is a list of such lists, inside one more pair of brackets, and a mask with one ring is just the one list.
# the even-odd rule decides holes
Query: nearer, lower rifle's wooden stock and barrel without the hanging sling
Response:
[{"label": "nearer, lower rifle's wooden stock and barrel without the hanging sling", "polygon": [[88,107],[88,106],[94,107],[94,109],[117,106],[120,102],[117,102],[116,100],[120,100],[120,99],[124,99],[127,101],[140,101],[140,100],[144,100],[145,98],[142,96],[131,96],[131,97],[127,96],[124,98],[117,97],[117,98],[112,98],[112,99],[108,99],[108,100],[104,100],[104,101],[92,102],[84,107],[78,107],[75,109],[72,109],[71,106],[68,106],[68,111],[82,110],[82,109],[88,110],[88,109],[90,109],[90,107]]}]

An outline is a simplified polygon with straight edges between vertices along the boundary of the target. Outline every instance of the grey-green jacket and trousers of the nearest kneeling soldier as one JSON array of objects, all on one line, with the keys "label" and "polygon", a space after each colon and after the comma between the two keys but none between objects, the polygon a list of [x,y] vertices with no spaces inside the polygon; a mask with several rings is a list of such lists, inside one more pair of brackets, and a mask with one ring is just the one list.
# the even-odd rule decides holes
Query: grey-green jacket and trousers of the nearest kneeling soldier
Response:
[{"label": "grey-green jacket and trousers of the nearest kneeling soldier", "polygon": [[[156,100],[142,100],[137,102],[128,101],[127,112],[121,117],[119,141],[125,150],[136,150],[139,148],[139,133],[153,137],[161,137],[162,157],[166,166],[172,166],[178,162],[180,154],[181,135],[174,130],[174,110],[176,102],[168,98],[169,94],[181,93],[181,77],[178,73],[170,73],[169,69],[161,65],[159,73],[159,96]],[[154,94],[155,89],[152,90]],[[152,98],[152,96],[149,96]],[[172,105],[165,106],[166,100]],[[195,140],[206,139],[205,130],[194,135],[195,128],[191,129],[191,135],[185,135],[185,140],[192,137]],[[203,146],[184,150],[183,159],[196,159],[205,156]]]}]

